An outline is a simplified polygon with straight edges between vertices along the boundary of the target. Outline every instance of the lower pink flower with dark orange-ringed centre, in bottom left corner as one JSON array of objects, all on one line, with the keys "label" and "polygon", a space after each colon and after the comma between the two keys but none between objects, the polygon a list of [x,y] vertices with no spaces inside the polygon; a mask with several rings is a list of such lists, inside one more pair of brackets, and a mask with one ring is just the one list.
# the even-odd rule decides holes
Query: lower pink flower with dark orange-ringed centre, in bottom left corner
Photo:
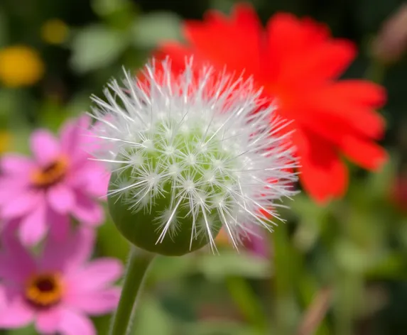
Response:
[{"label": "lower pink flower with dark orange-ringed centre, in bottom left corner", "polygon": [[47,238],[43,253],[33,258],[15,236],[3,239],[0,253],[0,329],[35,322],[40,334],[93,335],[87,317],[112,312],[122,273],[114,258],[87,261],[94,246],[92,229],[81,228],[62,243]]}]

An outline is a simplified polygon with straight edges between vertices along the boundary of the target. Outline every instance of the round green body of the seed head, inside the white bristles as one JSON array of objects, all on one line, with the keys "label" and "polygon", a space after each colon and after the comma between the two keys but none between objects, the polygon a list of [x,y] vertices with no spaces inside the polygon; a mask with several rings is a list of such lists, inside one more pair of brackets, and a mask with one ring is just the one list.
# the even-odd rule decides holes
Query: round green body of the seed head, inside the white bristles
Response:
[{"label": "round green body of the seed head, inside the white bristles", "polygon": [[[122,150],[109,182],[114,224],[131,243],[165,256],[182,256],[214,240],[222,227],[219,206],[232,207],[231,178],[222,146],[202,145],[198,128],[165,136],[143,134],[141,145]],[[157,135],[159,134],[159,136]]]}]

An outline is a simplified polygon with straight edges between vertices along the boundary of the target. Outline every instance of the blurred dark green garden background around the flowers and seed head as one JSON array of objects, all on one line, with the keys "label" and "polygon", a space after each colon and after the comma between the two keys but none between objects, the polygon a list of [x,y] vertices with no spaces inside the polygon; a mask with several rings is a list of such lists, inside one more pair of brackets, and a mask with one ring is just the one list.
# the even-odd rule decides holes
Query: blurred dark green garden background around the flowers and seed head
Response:
[{"label": "blurred dark green garden background around the flowers and seed head", "polygon": [[[253,0],[261,20],[277,11],[327,23],[357,43],[344,77],[383,84],[388,102],[379,172],[349,164],[343,199],[315,204],[305,192],[287,202],[286,224],[265,234],[266,255],[159,257],[139,302],[134,335],[407,334],[407,4],[401,0]],[[89,111],[122,66],[136,70],[180,25],[233,0],[1,0],[0,155],[28,153],[34,128],[58,131]],[[126,261],[128,245],[109,219],[97,256]],[[109,316],[94,319],[107,334]],[[4,330],[36,334],[33,327]],[[78,334],[80,335],[80,334]]]}]

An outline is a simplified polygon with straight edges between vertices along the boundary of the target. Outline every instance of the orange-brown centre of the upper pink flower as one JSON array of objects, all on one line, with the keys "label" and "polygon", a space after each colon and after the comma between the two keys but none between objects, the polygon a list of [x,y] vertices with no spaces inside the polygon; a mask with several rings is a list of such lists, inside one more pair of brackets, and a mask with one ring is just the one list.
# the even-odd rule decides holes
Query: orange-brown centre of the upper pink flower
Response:
[{"label": "orange-brown centre of the upper pink flower", "polygon": [[36,187],[46,188],[63,180],[67,172],[67,160],[63,157],[33,172],[31,180]]}]

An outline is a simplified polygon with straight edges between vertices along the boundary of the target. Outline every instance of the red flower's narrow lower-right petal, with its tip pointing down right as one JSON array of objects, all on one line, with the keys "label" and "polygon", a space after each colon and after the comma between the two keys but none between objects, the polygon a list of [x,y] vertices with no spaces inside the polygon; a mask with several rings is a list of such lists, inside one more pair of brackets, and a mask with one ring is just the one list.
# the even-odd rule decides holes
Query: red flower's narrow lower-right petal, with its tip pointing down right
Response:
[{"label": "red flower's narrow lower-right petal, with its tip pointing down right", "polygon": [[367,170],[378,170],[388,159],[380,145],[353,136],[343,138],[341,148],[350,160]]}]

